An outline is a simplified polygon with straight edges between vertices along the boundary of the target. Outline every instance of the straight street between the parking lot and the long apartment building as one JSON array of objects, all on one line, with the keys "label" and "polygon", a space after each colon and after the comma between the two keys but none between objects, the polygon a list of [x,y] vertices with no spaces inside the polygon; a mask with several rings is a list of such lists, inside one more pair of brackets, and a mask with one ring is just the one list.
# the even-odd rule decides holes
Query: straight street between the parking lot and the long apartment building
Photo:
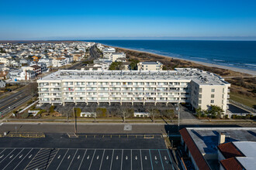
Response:
[{"label": "straight street between the parking lot and the long apartment building", "polygon": [[[112,134],[134,134],[134,133],[175,133],[178,131],[177,125],[168,124],[130,124],[130,131],[125,129],[127,124],[78,124],[78,133],[112,133]],[[253,127],[256,128],[256,124],[243,124],[243,123],[230,123],[230,124],[182,124],[180,129],[185,127]],[[74,124],[67,123],[2,123],[0,124],[0,131],[20,131],[20,132],[43,132],[43,133],[67,133],[74,132]]]}]

